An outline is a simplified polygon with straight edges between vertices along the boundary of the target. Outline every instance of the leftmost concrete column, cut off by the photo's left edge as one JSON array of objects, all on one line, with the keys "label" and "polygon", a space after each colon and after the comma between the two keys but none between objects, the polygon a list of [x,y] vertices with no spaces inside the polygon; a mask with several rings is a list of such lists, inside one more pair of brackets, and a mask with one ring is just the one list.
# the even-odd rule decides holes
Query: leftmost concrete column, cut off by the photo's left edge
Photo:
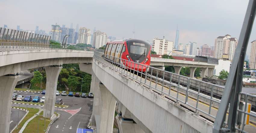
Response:
[{"label": "leftmost concrete column, cut off by the photo's left edge", "polygon": [[0,77],[0,132],[9,133],[11,117],[11,98],[18,76]]}]

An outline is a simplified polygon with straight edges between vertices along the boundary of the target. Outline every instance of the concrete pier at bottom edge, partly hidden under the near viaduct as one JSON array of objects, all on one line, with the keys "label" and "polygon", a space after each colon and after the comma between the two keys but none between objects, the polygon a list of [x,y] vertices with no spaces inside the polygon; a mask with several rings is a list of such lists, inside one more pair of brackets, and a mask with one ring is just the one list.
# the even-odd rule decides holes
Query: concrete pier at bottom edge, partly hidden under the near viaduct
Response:
[{"label": "concrete pier at bottom edge, partly hidden under the near viaduct", "polygon": [[117,114],[115,119],[117,120],[120,133],[145,133],[133,120],[123,119],[119,114]]}]

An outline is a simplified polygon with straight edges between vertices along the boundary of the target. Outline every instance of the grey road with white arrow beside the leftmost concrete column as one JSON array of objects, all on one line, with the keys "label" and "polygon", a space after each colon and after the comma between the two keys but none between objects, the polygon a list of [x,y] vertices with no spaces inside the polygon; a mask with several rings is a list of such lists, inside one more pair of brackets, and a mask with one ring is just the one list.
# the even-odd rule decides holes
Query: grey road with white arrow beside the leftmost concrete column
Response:
[{"label": "grey road with white arrow beside the leftmost concrete column", "polygon": [[[18,119],[18,112],[19,112],[19,120]],[[17,123],[23,118],[23,116],[26,114],[27,112],[24,110],[19,110],[19,109],[15,109],[12,108],[11,109],[11,119],[10,119],[10,128],[9,128],[9,132],[11,132],[12,129],[14,129],[14,127],[17,125]]]}]

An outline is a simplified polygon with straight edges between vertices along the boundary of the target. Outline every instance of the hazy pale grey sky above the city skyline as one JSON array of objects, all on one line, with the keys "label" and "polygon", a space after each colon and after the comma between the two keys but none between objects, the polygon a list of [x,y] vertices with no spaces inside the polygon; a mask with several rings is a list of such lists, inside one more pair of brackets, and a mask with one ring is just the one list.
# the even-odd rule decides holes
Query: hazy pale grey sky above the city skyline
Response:
[{"label": "hazy pale grey sky above the city skyline", "polygon": [[[105,32],[118,39],[133,37],[152,42],[154,37],[179,43],[214,45],[226,34],[239,38],[248,0],[0,0],[1,21],[9,28],[45,30],[57,23]],[[255,22],[250,42],[256,39]],[[248,45],[250,49],[250,43]],[[248,53],[248,52],[247,52]]]}]

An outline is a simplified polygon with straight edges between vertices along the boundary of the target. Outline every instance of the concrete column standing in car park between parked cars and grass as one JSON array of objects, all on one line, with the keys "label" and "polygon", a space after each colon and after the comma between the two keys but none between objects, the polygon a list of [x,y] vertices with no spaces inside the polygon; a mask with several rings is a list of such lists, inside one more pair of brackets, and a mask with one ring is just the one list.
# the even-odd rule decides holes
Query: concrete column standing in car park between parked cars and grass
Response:
[{"label": "concrete column standing in car park between parked cars and grass", "polygon": [[54,114],[55,98],[57,90],[57,81],[61,72],[61,66],[47,66],[45,67],[46,72],[46,89],[45,89],[45,105],[43,117],[51,118]]}]

